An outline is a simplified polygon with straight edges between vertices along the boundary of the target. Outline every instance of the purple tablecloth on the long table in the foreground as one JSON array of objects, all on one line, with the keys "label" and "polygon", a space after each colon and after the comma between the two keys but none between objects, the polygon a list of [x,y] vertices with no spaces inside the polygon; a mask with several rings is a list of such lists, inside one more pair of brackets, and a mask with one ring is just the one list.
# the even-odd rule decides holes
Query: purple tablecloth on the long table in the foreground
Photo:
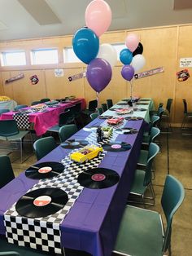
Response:
[{"label": "purple tablecloth on the long table in the foreground", "polygon": [[[101,122],[101,120],[95,119],[91,125],[95,126]],[[125,152],[107,152],[99,165],[99,167],[116,170],[120,174],[119,183],[111,188],[83,189],[61,224],[63,247],[84,250],[94,256],[111,255],[120,218],[133,182],[133,174],[137,166],[142,133],[146,129],[146,122],[128,121],[124,127],[136,128],[138,133],[118,135],[116,140],[128,142],[132,148]],[[80,130],[72,138],[85,139],[88,135],[89,132]],[[59,146],[39,162],[61,161],[69,152],[70,150]],[[0,190],[0,234],[5,235],[4,212],[37,182],[37,180],[26,178],[23,173]]]}]

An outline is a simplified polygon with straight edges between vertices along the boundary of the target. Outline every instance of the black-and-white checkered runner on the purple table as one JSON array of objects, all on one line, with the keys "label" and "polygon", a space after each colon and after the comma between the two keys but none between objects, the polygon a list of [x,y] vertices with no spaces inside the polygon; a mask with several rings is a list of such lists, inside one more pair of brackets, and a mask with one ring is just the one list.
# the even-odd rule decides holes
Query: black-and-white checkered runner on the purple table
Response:
[{"label": "black-and-white checkered runner on the purple table", "polygon": [[[107,122],[103,121],[101,126],[107,126]],[[124,126],[124,123],[121,123],[118,127],[122,126]],[[107,143],[109,140],[115,140],[117,135],[118,134],[114,130],[109,139],[103,140],[102,143],[97,143],[95,130],[89,134],[86,140],[89,141],[89,144],[102,146],[103,143]],[[72,152],[78,150],[79,149],[75,149]],[[71,209],[83,189],[83,187],[77,183],[77,177],[84,170],[98,167],[105,154],[106,151],[103,151],[98,157],[82,164],[71,161],[69,155],[64,157],[61,161],[64,166],[62,174],[59,174],[52,179],[41,179],[29,191],[39,188],[60,188],[68,194],[67,204],[62,210],[59,210],[55,214],[42,218],[26,218],[17,213],[15,210],[15,203],[11,206],[11,209],[7,210],[4,214],[8,242],[20,246],[31,247],[33,249],[41,249],[53,254],[62,254],[59,225],[62,223],[63,218],[68,214],[68,211]]]}]

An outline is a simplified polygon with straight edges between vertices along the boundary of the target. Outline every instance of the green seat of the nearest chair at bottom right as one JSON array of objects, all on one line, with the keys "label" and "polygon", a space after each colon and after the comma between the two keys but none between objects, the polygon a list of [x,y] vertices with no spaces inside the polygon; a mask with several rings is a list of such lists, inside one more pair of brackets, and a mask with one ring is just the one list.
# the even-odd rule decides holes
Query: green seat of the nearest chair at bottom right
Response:
[{"label": "green seat of the nearest chair at bottom right", "polygon": [[162,225],[159,213],[126,205],[116,248],[125,255],[162,256]]}]

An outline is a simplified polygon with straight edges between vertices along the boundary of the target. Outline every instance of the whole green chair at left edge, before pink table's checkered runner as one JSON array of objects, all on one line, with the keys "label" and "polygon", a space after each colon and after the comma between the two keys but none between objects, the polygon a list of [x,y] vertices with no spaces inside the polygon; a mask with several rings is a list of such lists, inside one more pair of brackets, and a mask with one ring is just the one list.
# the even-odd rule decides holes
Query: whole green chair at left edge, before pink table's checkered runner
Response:
[{"label": "whole green chair at left edge, before pink table's checkered runner", "polygon": [[19,130],[15,120],[0,120],[0,140],[20,142],[20,161],[23,162],[23,140],[29,130]]}]

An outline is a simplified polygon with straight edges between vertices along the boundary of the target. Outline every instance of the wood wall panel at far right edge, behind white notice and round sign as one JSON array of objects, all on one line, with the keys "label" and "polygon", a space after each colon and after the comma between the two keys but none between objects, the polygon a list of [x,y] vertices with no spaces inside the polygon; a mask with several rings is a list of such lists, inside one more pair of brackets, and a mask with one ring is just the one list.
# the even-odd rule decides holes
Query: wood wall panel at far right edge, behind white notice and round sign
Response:
[{"label": "wood wall panel at far right edge, behind white notice and round sign", "polygon": [[[178,56],[177,56],[177,70],[176,72],[185,68],[180,68],[181,58],[192,58],[192,25],[181,26],[179,28],[178,38]],[[180,123],[183,118],[183,103],[182,99],[186,99],[188,111],[192,112],[192,68],[189,70],[190,77],[184,82],[176,81],[176,110],[175,122]]]}]

